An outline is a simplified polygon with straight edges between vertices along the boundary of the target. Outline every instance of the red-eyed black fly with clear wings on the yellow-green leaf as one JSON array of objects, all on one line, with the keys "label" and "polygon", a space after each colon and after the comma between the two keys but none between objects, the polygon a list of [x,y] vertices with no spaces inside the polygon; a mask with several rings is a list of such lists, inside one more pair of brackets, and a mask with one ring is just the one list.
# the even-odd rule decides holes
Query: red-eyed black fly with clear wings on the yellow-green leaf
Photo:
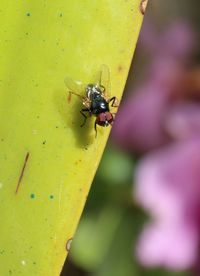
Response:
[{"label": "red-eyed black fly with clear wings on the yellow-green leaf", "polygon": [[[84,117],[81,127],[85,125],[88,115],[94,115],[96,117],[94,123],[96,136],[97,125],[107,127],[113,124],[115,113],[110,112],[110,105],[111,107],[118,107],[119,104],[115,96],[109,98],[110,71],[106,65],[101,66],[99,78],[96,83],[84,85],[80,81],[73,81],[67,77],[65,84],[69,89],[68,100],[71,100],[71,95],[73,94],[79,97],[84,105],[84,108],[80,110],[81,115]],[[84,96],[81,95],[83,92],[85,93]]]}]

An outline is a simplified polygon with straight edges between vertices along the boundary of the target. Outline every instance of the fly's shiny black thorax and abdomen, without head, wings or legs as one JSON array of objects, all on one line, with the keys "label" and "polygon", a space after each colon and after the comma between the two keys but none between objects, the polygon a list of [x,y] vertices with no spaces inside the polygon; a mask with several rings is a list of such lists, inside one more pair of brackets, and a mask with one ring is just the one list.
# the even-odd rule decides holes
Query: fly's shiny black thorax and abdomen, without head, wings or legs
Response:
[{"label": "fly's shiny black thorax and abdomen, without head, wings or legs", "polygon": [[89,84],[86,87],[86,96],[91,101],[89,110],[94,115],[110,111],[109,104],[103,97],[101,89],[104,89],[104,87],[100,88],[96,84]]}]

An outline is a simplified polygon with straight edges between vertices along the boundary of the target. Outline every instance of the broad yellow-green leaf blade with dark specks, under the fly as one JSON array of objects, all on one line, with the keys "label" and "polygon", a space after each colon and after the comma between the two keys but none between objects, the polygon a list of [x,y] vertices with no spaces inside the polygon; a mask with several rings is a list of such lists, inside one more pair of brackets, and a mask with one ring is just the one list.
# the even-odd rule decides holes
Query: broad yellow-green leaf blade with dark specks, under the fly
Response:
[{"label": "broad yellow-green leaf blade with dark specks, under the fly", "polygon": [[92,82],[106,64],[120,98],[139,5],[1,2],[0,275],[59,274],[109,134],[99,128],[95,139],[93,119],[80,128],[64,80]]}]

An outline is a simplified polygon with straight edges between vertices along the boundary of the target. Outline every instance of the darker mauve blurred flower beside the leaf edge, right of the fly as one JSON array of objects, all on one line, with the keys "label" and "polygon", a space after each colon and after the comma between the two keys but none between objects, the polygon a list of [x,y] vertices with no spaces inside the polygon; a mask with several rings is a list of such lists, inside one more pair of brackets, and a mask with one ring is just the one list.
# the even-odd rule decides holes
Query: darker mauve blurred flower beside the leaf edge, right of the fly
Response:
[{"label": "darker mauve blurred flower beside the leaf edge, right of the fly", "polygon": [[[143,29],[145,30],[145,26]],[[179,38],[178,45],[174,43],[175,36]],[[180,102],[185,105],[188,103],[185,102],[187,91],[184,79],[194,46],[192,38],[189,27],[180,23],[166,31],[163,37],[153,37],[154,44],[155,41],[162,42],[159,44],[162,51],[156,47],[157,44],[151,45],[153,50],[158,49],[153,52],[143,85],[120,106],[112,130],[113,140],[117,144],[140,153],[162,146],[174,138],[169,131],[169,124],[173,121],[171,109],[174,111],[176,104],[179,106]],[[191,107],[191,103],[188,104]],[[184,118],[187,120],[188,112],[185,113]],[[175,112],[173,114],[177,115]]]}]

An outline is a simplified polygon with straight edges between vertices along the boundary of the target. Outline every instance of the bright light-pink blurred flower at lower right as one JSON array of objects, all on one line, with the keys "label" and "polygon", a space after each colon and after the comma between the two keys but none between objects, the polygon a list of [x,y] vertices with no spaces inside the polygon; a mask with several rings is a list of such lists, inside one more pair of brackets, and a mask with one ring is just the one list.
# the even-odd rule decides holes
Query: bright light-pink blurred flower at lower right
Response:
[{"label": "bright light-pink blurred flower at lower right", "polygon": [[200,237],[200,140],[150,153],[135,181],[134,196],[152,217],[139,239],[140,261],[172,269],[194,265]]}]

